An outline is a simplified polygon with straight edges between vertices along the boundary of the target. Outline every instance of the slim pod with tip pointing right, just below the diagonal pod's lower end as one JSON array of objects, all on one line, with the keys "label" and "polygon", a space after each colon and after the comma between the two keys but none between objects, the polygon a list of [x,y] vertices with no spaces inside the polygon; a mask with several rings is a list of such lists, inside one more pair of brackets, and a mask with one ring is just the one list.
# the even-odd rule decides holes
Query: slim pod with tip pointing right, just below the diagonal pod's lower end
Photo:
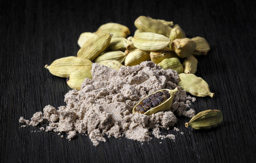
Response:
[{"label": "slim pod with tip pointing right, just below the diagonal pod's lower end", "polygon": [[127,54],[129,54],[128,50],[126,50],[125,52],[122,52],[122,51],[107,52],[102,55],[99,55],[97,58],[94,59],[94,61],[98,63],[103,60],[117,60],[120,63],[122,63],[124,62],[124,59],[126,59]]}]

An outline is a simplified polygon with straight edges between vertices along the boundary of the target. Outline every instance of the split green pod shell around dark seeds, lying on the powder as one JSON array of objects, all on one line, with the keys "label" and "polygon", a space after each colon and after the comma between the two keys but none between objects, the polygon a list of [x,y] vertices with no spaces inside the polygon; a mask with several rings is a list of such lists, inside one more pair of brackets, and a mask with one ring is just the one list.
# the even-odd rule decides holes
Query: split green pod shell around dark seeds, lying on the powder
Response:
[{"label": "split green pod shell around dark seeds, lying on the powder", "polygon": [[[149,109],[148,111],[146,111],[144,113],[144,115],[152,115],[152,114],[155,114],[159,111],[166,111],[166,110],[171,108],[173,98],[174,98],[175,94],[179,91],[179,89],[178,89],[178,87],[176,87],[174,90],[169,90],[169,89],[163,89],[163,90],[166,90],[170,93],[170,95],[171,95],[170,98],[168,98],[164,103],[161,103],[160,105],[156,106],[155,108]],[[153,95],[154,93],[159,92],[159,91],[163,91],[163,90],[155,91],[155,92],[149,94],[148,96]],[[136,106],[139,105],[143,101],[143,99],[147,98],[148,96],[142,98],[141,101],[134,106],[133,114],[136,113],[136,111],[135,111]]]}]

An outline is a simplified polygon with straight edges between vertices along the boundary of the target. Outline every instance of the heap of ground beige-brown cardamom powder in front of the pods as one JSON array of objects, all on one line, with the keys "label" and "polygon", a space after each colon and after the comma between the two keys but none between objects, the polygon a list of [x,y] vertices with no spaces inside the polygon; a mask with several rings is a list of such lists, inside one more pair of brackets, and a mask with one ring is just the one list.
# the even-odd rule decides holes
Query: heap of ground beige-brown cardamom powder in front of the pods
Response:
[{"label": "heap of ground beige-brown cardamom powder in front of the pods", "polygon": [[177,122],[178,116],[193,117],[195,111],[187,108],[195,98],[179,91],[173,99],[169,111],[160,111],[146,116],[132,114],[133,106],[149,93],[160,89],[174,89],[179,81],[178,73],[164,70],[151,61],[132,67],[122,67],[119,71],[92,65],[92,79],[86,78],[81,90],[71,90],[65,95],[66,106],[55,109],[45,106],[36,112],[32,121],[20,118],[21,123],[37,126],[43,120],[48,122],[46,131],[65,132],[67,139],[77,133],[89,135],[93,145],[106,141],[104,135],[116,138],[126,136],[137,141],[149,141],[152,134],[159,138],[175,139],[172,134],[160,135],[160,128],[169,129]]}]

